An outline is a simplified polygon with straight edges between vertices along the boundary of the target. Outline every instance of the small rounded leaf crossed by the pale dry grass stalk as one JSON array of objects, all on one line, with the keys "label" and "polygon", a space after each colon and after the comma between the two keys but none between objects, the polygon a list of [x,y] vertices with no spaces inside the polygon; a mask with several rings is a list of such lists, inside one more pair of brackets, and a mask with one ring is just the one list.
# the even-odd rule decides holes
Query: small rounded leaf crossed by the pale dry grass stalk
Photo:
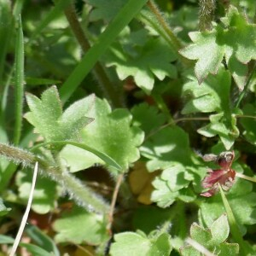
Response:
[{"label": "small rounded leaf crossed by the pale dry grass stalk", "polygon": [[[26,203],[32,185],[32,172],[25,170],[18,172],[16,184],[19,186],[19,197]],[[47,177],[38,176],[33,193],[32,210],[45,214],[55,207],[57,196],[56,183]]]}]

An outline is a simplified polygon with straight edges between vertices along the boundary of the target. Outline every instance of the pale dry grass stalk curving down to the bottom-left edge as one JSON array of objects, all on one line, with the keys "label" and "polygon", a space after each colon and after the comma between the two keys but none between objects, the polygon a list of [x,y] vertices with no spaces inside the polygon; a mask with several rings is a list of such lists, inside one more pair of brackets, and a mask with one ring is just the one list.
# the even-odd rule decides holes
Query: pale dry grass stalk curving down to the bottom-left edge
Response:
[{"label": "pale dry grass stalk curving down to the bottom-left edge", "polygon": [[32,187],[31,187],[31,190],[30,190],[30,193],[29,193],[29,198],[28,198],[28,201],[27,201],[26,211],[24,212],[23,218],[22,218],[21,223],[20,223],[20,229],[17,233],[14,245],[12,247],[11,252],[9,253],[9,256],[14,256],[15,255],[17,247],[19,246],[19,243],[20,243],[20,238],[22,236],[23,230],[26,226],[26,220],[28,218],[28,214],[29,214],[29,211],[30,211],[30,208],[31,208],[31,205],[32,205],[32,198],[33,198],[33,193],[34,193],[34,190],[35,190],[37,175],[38,175],[38,162],[36,162],[36,165],[35,165],[35,168],[34,168],[34,173],[33,173],[33,177],[32,177]]}]

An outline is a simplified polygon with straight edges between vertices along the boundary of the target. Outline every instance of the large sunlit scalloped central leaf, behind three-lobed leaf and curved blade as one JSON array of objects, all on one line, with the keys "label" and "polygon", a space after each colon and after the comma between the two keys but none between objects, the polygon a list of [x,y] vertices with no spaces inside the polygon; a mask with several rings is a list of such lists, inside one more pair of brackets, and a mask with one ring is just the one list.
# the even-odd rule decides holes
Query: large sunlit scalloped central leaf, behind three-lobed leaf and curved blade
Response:
[{"label": "large sunlit scalloped central leaf, behind three-lobed leaf and curved blade", "polygon": [[[139,158],[137,147],[143,143],[143,131],[131,126],[131,113],[127,110],[115,109],[112,112],[108,102],[98,98],[90,116],[95,121],[81,132],[81,141],[90,145],[90,148],[108,154],[125,172],[128,166]],[[102,160],[96,159],[95,156],[87,160],[84,158],[84,151],[81,150],[80,153],[77,150],[77,158],[81,157],[81,169],[90,166],[92,162],[102,164]],[[66,157],[65,160],[69,164],[70,159]],[[75,171],[79,170],[73,168],[73,172]]]}]

